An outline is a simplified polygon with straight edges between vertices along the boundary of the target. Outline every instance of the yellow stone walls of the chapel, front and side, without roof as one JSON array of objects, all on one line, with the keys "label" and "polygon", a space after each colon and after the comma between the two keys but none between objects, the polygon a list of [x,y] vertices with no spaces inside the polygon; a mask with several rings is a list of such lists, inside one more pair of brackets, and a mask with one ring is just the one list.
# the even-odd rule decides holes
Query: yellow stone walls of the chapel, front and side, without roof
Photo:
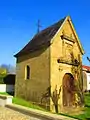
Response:
[{"label": "yellow stone walls of the chapel, front and side, without roof", "polygon": [[[44,36],[43,36],[44,37]],[[63,106],[63,79],[65,74],[73,76],[82,89],[82,55],[84,51],[70,17],[66,17],[59,30],[50,40],[49,46],[17,57],[15,95],[33,102],[41,102],[50,87],[50,97],[42,100],[51,111],[55,111],[55,92],[58,110]],[[25,66],[30,66],[30,79],[25,80]],[[47,91],[46,91],[47,90]],[[54,92],[55,91],[55,92]]]}]

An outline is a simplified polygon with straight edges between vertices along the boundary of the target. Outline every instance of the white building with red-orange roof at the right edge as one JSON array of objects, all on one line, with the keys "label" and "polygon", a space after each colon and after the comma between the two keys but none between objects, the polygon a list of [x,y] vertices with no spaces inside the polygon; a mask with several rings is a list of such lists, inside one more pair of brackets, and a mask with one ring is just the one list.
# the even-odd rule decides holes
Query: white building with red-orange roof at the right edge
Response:
[{"label": "white building with red-orange roof at the right edge", "polygon": [[90,66],[83,65],[83,90],[90,91]]}]

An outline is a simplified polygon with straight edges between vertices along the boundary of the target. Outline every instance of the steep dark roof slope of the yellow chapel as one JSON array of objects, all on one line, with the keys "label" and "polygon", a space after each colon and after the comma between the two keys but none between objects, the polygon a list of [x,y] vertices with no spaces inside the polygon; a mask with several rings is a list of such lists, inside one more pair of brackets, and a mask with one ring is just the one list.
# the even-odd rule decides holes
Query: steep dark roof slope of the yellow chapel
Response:
[{"label": "steep dark roof slope of the yellow chapel", "polygon": [[65,18],[61,19],[59,22],[53,24],[52,26],[42,30],[38,34],[36,34],[32,40],[20,51],[18,52],[15,57],[24,55],[26,53],[36,51],[45,45],[50,45],[50,41],[56,32],[61,27],[62,23],[64,22]]}]

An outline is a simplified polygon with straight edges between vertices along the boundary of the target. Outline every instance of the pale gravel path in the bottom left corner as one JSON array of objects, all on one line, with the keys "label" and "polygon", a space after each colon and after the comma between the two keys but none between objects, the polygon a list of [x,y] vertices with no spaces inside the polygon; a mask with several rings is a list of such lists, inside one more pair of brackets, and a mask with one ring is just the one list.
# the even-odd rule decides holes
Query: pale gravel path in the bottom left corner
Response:
[{"label": "pale gravel path in the bottom left corner", "polygon": [[40,120],[9,108],[0,107],[0,120]]}]

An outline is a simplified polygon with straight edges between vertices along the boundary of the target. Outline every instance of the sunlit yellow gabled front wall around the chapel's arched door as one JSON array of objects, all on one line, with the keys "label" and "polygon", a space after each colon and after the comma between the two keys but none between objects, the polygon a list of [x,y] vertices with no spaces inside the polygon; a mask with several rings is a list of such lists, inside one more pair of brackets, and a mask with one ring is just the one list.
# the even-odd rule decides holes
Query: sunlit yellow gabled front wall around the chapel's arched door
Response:
[{"label": "sunlit yellow gabled front wall around the chapel's arched door", "polygon": [[[55,91],[56,87],[59,93],[60,86],[62,86],[63,77],[66,73],[71,73],[73,77],[77,80],[81,79],[80,70],[82,63],[82,53],[74,32],[69,21],[67,20],[52,39],[52,44],[50,46],[51,94],[53,94],[53,91]],[[72,39],[73,42],[66,39],[62,39],[61,38],[62,35],[68,36],[70,39]],[[71,58],[72,56],[70,53],[73,54],[73,58]],[[65,62],[58,63],[58,59],[66,61],[66,63]],[[67,64],[75,59],[78,60],[80,65],[75,66],[72,64]],[[62,101],[63,101],[62,96],[63,96],[63,92],[61,88],[61,93],[58,100],[59,110],[61,110],[62,107]],[[50,106],[51,106],[51,110],[55,112],[55,107],[52,99],[50,102]]]}]

